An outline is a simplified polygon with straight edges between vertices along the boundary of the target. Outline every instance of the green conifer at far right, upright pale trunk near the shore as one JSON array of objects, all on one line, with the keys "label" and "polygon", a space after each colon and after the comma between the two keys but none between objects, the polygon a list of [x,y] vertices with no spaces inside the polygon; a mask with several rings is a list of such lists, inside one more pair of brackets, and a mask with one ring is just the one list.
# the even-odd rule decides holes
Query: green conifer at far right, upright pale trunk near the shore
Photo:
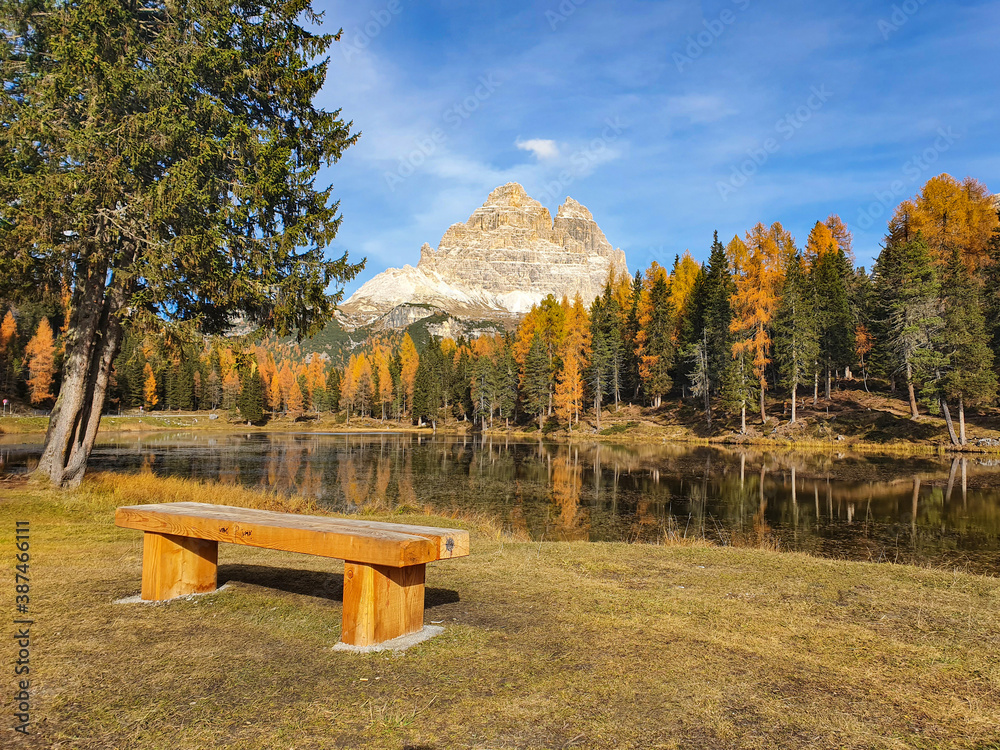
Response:
[{"label": "green conifer at far right, upright pale trunk near the shore", "polygon": [[990,404],[997,396],[993,352],[986,336],[982,297],[975,279],[957,248],[945,272],[944,347],[948,356],[944,397],[958,402],[958,442],[966,445],[966,405]]}]

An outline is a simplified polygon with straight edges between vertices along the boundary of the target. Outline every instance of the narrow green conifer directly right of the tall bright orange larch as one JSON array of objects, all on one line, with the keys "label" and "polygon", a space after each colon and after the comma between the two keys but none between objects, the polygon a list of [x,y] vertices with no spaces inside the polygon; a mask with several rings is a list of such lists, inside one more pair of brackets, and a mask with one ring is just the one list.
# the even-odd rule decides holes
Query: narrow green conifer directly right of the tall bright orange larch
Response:
[{"label": "narrow green conifer directly right of the tall bright orange larch", "polygon": [[[823,259],[819,261],[821,265]],[[774,354],[782,384],[792,396],[792,418],[796,421],[799,385],[812,379],[819,354],[819,335],[813,311],[813,290],[805,262],[795,255],[785,270],[781,305],[774,320]]]}]

